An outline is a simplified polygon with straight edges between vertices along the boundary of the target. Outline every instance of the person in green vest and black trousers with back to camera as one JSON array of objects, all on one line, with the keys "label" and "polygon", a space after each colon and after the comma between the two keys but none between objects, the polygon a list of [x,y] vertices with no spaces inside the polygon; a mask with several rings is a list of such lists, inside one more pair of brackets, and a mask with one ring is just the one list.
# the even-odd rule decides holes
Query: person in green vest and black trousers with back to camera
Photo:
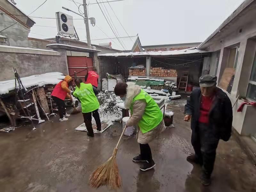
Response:
[{"label": "person in green vest and black trousers with back to camera", "polygon": [[92,84],[84,84],[81,78],[75,79],[76,90],[73,95],[81,102],[84,116],[84,124],[87,129],[87,135],[94,137],[92,129],[92,116],[95,119],[97,130],[101,131],[100,115],[98,109],[100,103],[96,97],[99,91]]}]

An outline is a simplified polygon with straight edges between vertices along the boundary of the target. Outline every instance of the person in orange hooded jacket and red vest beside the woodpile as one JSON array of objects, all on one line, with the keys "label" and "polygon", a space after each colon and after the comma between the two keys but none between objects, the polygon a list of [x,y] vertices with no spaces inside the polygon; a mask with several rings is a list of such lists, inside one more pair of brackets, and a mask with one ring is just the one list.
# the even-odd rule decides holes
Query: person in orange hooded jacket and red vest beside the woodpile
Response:
[{"label": "person in orange hooded jacket and red vest beside the woodpile", "polygon": [[70,95],[71,91],[68,89],[69,85],[71,85],[73,82],[73,79],[71,76],[67,75],[65,76],[64,80],[60,81],[53,89],[52,91],[52,99],[55,101],[55,103],[58,106],[59,115],[60,115],[60,121],[68,121],[68,118],[70,115],[66,113],[65,110],[65,98],[71,99],[72,97]]}]

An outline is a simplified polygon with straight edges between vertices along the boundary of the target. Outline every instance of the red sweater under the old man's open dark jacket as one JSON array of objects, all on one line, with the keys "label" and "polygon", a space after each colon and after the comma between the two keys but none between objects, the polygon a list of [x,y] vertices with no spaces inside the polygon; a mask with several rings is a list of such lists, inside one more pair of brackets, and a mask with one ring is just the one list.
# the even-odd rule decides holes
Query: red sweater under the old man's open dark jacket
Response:
[{"label": "red sweater under the old man's open dark jacket", "polygon": [[212,107],[213,96],[205,97],[202,95],[200,105],[199,123],[209,123],[209,112]]}]

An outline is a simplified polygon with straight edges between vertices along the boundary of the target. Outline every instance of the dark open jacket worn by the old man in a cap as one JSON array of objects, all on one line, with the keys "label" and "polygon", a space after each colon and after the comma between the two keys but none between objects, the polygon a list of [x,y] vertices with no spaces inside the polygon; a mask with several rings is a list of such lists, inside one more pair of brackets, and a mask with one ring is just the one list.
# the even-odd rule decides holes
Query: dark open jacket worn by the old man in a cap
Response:
[{"label": "dark open jacket worn by the old man in a cap", "polygon": [[[188,97],[185,115],[191,115],[191,129],[196,131],[200,116],[201,90],[195,89]],[[220,139],[228,141],[232,131],[233,112],[228,95],[216,87],[215,97],[209,113],[209,128],[216,130]]]}]

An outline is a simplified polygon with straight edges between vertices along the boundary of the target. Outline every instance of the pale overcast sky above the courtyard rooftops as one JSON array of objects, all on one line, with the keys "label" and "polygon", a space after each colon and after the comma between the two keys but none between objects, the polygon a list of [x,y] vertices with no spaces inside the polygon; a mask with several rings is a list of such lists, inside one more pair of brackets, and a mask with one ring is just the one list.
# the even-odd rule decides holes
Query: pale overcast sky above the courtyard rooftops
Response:
[{"label": "pale overcast sky above the courtyard rooftops", "polygon": [[[102,0],[98,0],[100,2]],[[103,0],[106,1],[106,0]],[[109,0],[111,1],[111,0]],[[130,36],[139,34],[142,45],[172,44],[204,41],[244,0],[124,0],[110,3],[117,17]],[[26,14],[34,11],[44,0],[15,0],[17,6]],[[75,0],[83,3],[83,0]],[[96,0],[87,0],[89,16],[96,19],[99,26],[109,37],[115,37],[108,26]],[[78,4],[79,5],[79,4]],[[55,12],[65,12],[74,19],[78,15],[61,7],[78,12],[70,0],[48,0],[30,16],[55,18]],[[127,36],[116,19],[108,3],[105,6],[120,36]],[[80,7],[81,10],[83,7]],[[105,8],[105,7],[104,7]],[[57,34],[55,19],[33,18],[36,24],[31,28],[30,37],[50,38]],[[39,27],[50,26],[50,27]],[[75,28],[85,28],[83,20],[74,20]],[[36,35],[36,34],[40,35]],[[85,30],[78,29],[80,40],[85,40]],[[91,39],[108,38],[99,28],[90,24]],[[43,36],[41,36],[43,35]]]}]

